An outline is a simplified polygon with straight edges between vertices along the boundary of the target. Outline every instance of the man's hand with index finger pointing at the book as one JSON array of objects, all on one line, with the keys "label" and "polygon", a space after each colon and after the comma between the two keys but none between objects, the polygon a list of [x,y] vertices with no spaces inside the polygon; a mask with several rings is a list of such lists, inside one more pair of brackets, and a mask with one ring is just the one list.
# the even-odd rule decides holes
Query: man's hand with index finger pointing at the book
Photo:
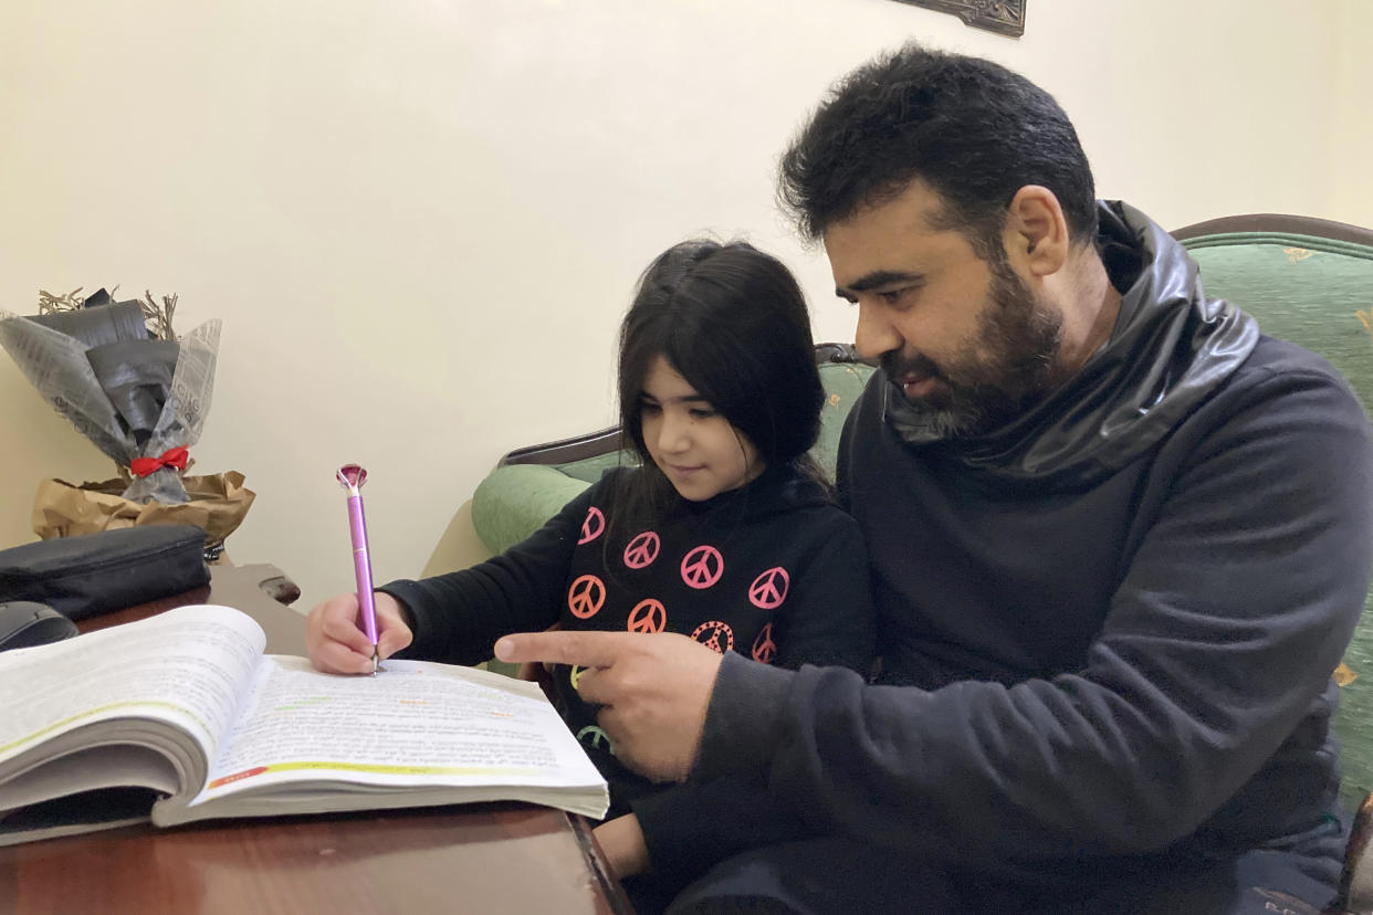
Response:
[{"label": "man's hand with index finger pointing at the book", "polygon": [[685,635],[641,632],[507,635],[496,643],[496,657],[584,668],[577,693],[603,706],[596,720],[615,756],[659,782],[680,782],[696,764],[724,660]]}]

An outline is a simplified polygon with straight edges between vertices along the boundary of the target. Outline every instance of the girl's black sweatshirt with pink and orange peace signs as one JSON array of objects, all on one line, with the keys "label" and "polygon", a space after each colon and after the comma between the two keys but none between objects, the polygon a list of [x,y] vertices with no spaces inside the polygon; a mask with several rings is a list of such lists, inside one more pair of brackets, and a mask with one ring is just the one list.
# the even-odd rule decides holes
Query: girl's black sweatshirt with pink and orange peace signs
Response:
[{"label": "girl's black sweatshirt with pink and orange peace signs", "polygon": [[[851,517],[814,482],[770,468],[707,502],[678,499],[645,530],[618,532],[616,473],[567,503],[523,543],[481,565],[383,591],[408,608],[405,657],[475,664],[511,632],[682,632],[717,650],[787,668],[868,671],[873,608],[868,560]],[[759,813],[755,786],[663,787],[621,764],[566,665],[553,700],[611,786],[611,815],[633,809],[655,870],[696,872],[732,851],[798,834],[785,811]]]}]

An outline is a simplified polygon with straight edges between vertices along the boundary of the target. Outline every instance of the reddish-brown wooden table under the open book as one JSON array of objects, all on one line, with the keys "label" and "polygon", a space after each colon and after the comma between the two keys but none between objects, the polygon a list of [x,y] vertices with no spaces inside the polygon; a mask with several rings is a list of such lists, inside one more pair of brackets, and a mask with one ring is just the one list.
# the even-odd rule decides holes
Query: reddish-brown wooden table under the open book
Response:
[{"label": "reddish-brown wooden table under the open book", "polygon": [[[82,623],[228,604],[305,653],[305,619],[259,589],[272,567],[211,567],[209,587]],[[279,572],[276,572],[279,575]],[[0,848],[0,912],[629,914],[586,819],[529,804],[135,826]]]}]

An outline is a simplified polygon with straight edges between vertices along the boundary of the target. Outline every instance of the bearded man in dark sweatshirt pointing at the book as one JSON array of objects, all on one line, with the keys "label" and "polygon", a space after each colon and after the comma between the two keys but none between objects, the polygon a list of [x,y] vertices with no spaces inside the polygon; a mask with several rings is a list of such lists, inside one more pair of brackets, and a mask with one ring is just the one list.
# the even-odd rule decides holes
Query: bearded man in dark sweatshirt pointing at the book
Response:
[{"label": "bearded man in dark sweatshirt pointing at the book", "polygon": [[1097,202],[1064,112],[986,60],[909,45],[850,74],[781,198],[880,361],[838,480],[877,683],[684,637],[497,645],[592,668],[579,690],[632,765],[763,779],[828,837],[732,859],[678,908],[1329,901],[1330,671],[1373,556],[1347,387]]}]

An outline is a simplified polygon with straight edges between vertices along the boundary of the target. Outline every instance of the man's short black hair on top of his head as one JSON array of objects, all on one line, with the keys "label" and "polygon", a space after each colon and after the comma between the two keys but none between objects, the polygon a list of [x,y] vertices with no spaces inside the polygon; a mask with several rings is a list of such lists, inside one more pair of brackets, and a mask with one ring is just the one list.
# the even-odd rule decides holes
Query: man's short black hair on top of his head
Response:
[{"label": "man's short black hair on top of his head", "polygon": [[910,43],[840,80],[783,156],[777,196],[820,239],[861,207],[924,181],[979,257],[1001,257],[1006,207],[1027,184],[1049,188],[1075,243],[1096,235],[1096,191],[1059,103],[1020,74]]}]

